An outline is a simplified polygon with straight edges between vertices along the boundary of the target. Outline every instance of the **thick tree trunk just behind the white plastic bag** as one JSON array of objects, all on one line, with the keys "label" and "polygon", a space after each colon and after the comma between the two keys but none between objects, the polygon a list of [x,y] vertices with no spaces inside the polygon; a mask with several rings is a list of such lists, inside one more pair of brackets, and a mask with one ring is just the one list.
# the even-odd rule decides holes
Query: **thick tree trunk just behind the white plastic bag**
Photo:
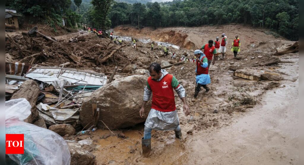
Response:
[{"label": "thick tree trunk just behind the white plastic bag", "polygon": [[21,87],[12,95],[11,99],[17,99],[17,98],[25,98],[27,101],[29,101],[29,104],[32,106],[31,108],[31,115],[27,119],[25,119],[25,122],[33,124],[38,119],[38,111],[36,108],[36,101],[40,94],[40,88],[36,81],[34,80],[27,80],[24,81],[24,83],[21,85]]}]

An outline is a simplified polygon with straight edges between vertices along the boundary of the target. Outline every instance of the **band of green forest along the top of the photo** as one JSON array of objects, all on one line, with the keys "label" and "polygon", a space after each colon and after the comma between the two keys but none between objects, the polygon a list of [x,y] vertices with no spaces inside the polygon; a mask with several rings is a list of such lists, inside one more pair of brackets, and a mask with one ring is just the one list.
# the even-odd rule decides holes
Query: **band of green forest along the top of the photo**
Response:
[{"label": "band of green forest along the top of the photo", "polygon": [[[128,2],[128,3],[126,3]],[[136,2],[136,3],[134,3]],[[54,24],[61,15],[68,25],[85,23],[107,29],[118,25],[217,26],[241,23],[265,28],[290,40],[299,40],[299,2],[297,0],[7,0],[6,7],[24,15]]]}]

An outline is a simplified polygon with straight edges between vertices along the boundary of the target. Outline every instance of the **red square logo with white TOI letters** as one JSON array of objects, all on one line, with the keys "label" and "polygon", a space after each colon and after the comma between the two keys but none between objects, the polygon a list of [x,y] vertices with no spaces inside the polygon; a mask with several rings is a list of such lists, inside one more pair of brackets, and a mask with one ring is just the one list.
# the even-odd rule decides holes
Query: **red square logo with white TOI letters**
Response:
[{"label": "red square logo with white TOI letters", "polygon": [[5,154],[24,153],[24,134],[5,134]]}]

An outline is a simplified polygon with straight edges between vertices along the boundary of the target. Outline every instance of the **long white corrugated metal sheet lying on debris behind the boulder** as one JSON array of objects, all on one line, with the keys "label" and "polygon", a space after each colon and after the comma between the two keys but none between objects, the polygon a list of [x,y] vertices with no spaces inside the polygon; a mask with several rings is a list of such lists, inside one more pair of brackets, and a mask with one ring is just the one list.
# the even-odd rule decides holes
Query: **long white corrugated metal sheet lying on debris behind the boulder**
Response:
[{"label": "long white corrugated metal sheet lying on debris behind the boulder", "polygon": [[[49,75],[49,76],[46,76]],[[59,76],[58,76],[59,74]],[[107,83],[107,77],[102,74],[92,74],[82,71],[65,70],[63,69],[35,69],[31,73],[27,74],[26,77],[35,78],[43,82],[51,82],[58,77],[64,78],[70,81],[72,84],[87,84],[87,85],[105,85]],[[51,78],[53,77],[53,79]]]}]

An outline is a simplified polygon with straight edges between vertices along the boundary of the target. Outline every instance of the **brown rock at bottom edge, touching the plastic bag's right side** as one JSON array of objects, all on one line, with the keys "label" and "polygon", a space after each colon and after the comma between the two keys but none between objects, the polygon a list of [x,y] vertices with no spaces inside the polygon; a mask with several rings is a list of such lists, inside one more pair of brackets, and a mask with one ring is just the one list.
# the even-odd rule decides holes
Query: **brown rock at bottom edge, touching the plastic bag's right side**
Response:
[{"label": "brown rock at bottom edge, touching the plastic bag's right side", "polygon": [[[80,144],[77,143],[70,143],[68,142],[67,145],[70,149],[71,154],[71,164],[70,165],[94,165],[95,164],[95,157],[92,153],[83,150]],[[81,163],[80,163],[81,162]]]}]

